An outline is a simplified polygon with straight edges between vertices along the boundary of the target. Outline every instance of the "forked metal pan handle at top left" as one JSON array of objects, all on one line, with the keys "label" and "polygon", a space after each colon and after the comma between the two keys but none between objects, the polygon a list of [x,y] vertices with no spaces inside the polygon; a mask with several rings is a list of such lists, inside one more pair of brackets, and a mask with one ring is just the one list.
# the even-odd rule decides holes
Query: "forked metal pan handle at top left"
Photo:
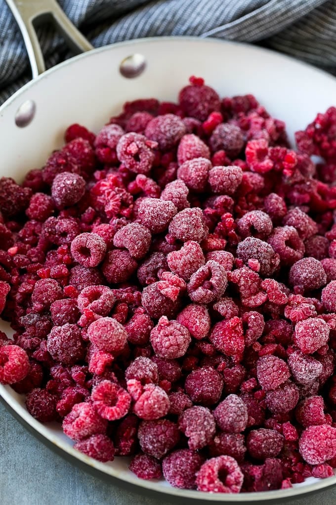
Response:
[{"label": "forked metal pan handle at top left", "polygon": [[63,35],[69,47],[76,54],[90,51],[93,45],[66,17],[56,0],[6,0],[23,35],[33,79],[45,71],[41,46],[36,35],[36,27],[51,21]]}]

